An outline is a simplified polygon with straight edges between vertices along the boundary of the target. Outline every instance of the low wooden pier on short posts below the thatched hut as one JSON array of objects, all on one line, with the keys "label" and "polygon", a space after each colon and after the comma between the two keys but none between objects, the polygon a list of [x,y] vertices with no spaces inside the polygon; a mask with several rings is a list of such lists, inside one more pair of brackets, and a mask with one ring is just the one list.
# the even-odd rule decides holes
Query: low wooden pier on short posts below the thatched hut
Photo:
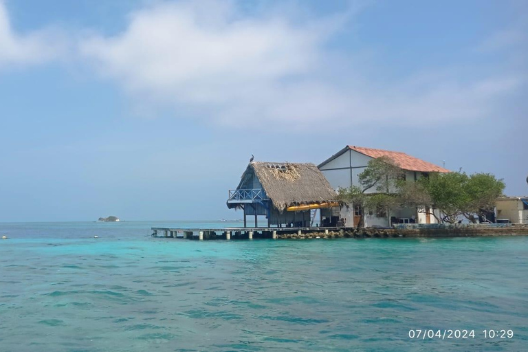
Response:
[{"label": "low wooden pier on short posts below the thatched hut", "polygon": [[151,228],[153,237],[173,239],[284,239],[338,236],[350,228]]}]

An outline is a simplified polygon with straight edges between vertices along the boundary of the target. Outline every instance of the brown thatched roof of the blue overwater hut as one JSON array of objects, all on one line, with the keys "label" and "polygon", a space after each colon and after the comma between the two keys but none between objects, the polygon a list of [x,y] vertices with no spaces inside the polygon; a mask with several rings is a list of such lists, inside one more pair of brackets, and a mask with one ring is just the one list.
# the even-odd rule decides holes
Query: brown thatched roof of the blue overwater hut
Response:
[{"label": "brown thatched roof of the blue overwater hut", "polygon": [[289,206],[336,201],[338,195],[314,164],[251,162],[242,175],[254,173],[279,211]]}]

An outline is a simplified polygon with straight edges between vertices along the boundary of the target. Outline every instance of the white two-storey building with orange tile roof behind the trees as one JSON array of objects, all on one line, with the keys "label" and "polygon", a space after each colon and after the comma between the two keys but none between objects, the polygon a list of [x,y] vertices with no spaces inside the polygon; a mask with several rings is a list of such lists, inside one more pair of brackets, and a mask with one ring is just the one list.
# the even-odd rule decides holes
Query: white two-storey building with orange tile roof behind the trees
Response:
[{"label": "white two-storey building with orange tile roof behind the trees", "polygon": [[[416,181],[428,173],[448,173],[450,170],[425,162],[416,157],[398,151],[386,151],[383,149],[363,148],[360,146],[345,146],[338,153],[332,155],[318,168],[328,179],[334,189],[359,186],[359,175],[365,170],[367,164],[377,157],[390,157],[395,164],[404,170],[407,181]],[[374,188],[366,190],[366,193],[374,193]],[[383,210],[377,212],[366,212],[364,217],[365,226],[390,226],[391,223],[437,223],[434,217],[440,217],[439,210],[424,206],[418,208],[395,208],[386,213]],[[341,217],[346,220],[347,225],[356,226],[360,221],[360,210],[357,207],[342,208]]]}]

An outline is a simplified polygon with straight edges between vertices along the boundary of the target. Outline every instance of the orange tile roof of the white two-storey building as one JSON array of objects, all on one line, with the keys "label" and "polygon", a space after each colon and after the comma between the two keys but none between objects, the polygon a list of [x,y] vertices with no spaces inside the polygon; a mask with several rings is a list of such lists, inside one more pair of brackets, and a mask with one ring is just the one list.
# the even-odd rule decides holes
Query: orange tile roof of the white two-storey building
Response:
[{"label": "orange tile roof of the white two-storey building", "polygon": [[417,157],[412,157],[401,151],[386,151],[384,149],[363,148],[362,146],[349,146],[353,151],[369,157],[390,157],[395,164],[404,170],[421,171],[422,173],[450,173],[447,168],[425,162]]}]

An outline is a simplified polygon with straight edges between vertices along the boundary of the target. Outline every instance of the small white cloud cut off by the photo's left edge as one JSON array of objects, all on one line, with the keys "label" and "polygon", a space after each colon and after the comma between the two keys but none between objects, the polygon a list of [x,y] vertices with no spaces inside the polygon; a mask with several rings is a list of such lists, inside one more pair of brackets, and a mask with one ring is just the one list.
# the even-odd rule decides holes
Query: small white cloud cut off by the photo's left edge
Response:
[{"label": "small white cloud cut off by the photo's left edge", "polygon": [[64,50],[61,35],[54,30],[38,30],[28,34],[14,32],[5,5],[0,0],[0,69],[52,61],[61,56]]}]

